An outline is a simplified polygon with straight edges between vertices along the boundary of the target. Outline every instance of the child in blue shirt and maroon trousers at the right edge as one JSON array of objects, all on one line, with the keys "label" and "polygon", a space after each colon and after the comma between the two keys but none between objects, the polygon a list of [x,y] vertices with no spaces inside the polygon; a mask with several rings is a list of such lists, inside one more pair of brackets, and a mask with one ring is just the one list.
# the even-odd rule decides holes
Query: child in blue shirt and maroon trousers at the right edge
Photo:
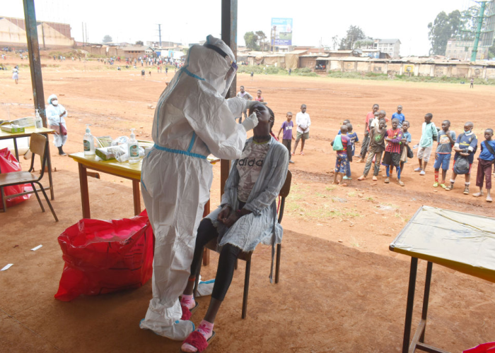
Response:
[{"label": "child in blue shirt and maroon trousers at the right edge", "polygon": [[479,186],[479,193],[474,193],[472,196],[478,198],[483,195],[483,180],[487,180],[487,202],[491,202],[491,164],[495,163],[495,141],[491,140],[494,136],[494,131],[487,128],[484,131],[484,141],[479,144],[481,152],[478,157],[478,172],[476,174],[476,186]]}]

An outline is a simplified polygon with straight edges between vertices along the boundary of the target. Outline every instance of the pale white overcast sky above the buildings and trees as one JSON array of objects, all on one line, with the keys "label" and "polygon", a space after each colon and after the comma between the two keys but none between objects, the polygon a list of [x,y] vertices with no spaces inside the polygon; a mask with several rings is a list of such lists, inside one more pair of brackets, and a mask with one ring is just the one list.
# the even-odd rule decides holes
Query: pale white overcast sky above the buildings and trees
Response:
[{"label": "pale white overcast sky above the buildings and trees", "polygon": [[[401,56],[426,55],[428,23],[441,11],[462,11],[473,4],[473,0],[238,0],[238,45],[245,45],[245,32],[262,30],[269,37],[272,18],[293,18],[293,45],[331,46],[332,37],[344,37],[349,25],[357,25],[368,37],[398,38]],[[162,41],[197,43],[221,33],[221,0],[35,0],[35,9],[37,20],[69,23],[72,37],[81,42],[82,23],[89,42],[101,42],[105,35],[114,42],[158,42],[158,23]],[[2,1],[0,16],[23,18],[23,1]]]}]

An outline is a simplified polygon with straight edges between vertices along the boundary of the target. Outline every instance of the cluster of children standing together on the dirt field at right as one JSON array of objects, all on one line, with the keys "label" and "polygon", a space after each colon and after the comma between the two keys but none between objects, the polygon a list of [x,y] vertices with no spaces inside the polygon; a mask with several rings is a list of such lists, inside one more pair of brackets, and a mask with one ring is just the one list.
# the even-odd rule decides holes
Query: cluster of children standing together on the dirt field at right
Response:
[{"label": "cluster of children standing together on the dirt field at right", "polygon": [[[378,104],[374,104],[372,111],[366,115],[365,133],[358,162],[365,162],[363,173],[358,178],[359,181],[367,179],[368,173],[373,168],[373,181],[378,181],[380,165],[385,166],[384,183],[390,183],[392,171],[395,168],[397,184],[404,186],[401,174],[404,170],[404,163],[408,158],[414,157],[413,149],[417,148],[418,167],[414,172],[419,175],[426,175],[426,166],[429,163],[431,152],[434,151],[434,182],[433,187],[441,186],[445,191],[454,188],[455,179],[459,174],[465,176],[465,186],[463,193],[470,193],[470,177],[474,155],[477,152],[478,140],[473,132],[474,124],[468,121],[464,125],[464,131],[457,137],[455,131],[450,129],[450,121],[444,120],[441,128],[437,128],[433,123],[433,114],[427,113],[421,126],[421,138],[418,145],[413,148],[409,146],[412,141],[409,133],[409,121],[405,120],[402,114],[402,106],[397,107],[397,112],[392,114],[391,128],[387,129],[388,119],[384,110],[379,110]],[[479,153],[478,168],[476,176],[476,186],[479,191],[474,193],[474,197],[484,196],[486,189],[487,202],[491,199],[491,172],[492,164],[495,164],[495,141],[492,140],[494,131],[487,128],[484,131],[484,141],[479,143],[481,152]],[[345,135],[345,136],[342,136]],[[345,120],[337,136],[332,141],[332,148],[337,152],[337,160],[334,167],[334,183],[342,186],[347,185],[351,180],[351,163],[354,155],[354,143],[358,142],[356,133],[353,133],[351,121]],[[447,184],[447,174],[450,168],[450,159],[454,152],[452,174]],[[366,156],[367,155],[367,156]],[[440,174],[440,170],[442,171]],[[495,174],[495,173],[494,173]],[[440,179],[441,178],[441,179]]]}]

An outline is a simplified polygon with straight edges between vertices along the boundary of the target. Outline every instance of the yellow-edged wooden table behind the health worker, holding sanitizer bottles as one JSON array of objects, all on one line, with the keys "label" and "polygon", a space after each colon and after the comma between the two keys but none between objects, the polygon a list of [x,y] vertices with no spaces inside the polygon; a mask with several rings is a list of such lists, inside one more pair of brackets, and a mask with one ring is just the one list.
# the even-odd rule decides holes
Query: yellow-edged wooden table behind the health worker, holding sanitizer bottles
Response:
[{"label": "yellow-edged wooden table behind the health worker, holding sanitizer bottles", "polygon": [[[148,142],[146,142],[148,143]],[[140,145],[143,143],[140,141]],[[152,143],[151,143],[152,145]],[[84,152],[73,153],[69,155],[73,160],[78,162],[79,166],[79,185],[81,186],[81,203],[83,206],[83,218],[91,218],[89,207],[89,191],[88,191],[88,172],[87,169],[96,170],[98,172],[115,175],[124,179],[132,180],[132,195],[134,198],[134,215],[141,213],[141,194],[139,191],[139,183],[141,181],[141,164],[129,164],[129,162],[118,162],[117,160],[102,160],[96,155],[84,155]],[[219,161],[219,158],[208,157],[211,164]],[[210,201],[204,205],[203,217],[210,213]],[[205,249],[203,256],[204,265],[209,264],[209,252]]]}]

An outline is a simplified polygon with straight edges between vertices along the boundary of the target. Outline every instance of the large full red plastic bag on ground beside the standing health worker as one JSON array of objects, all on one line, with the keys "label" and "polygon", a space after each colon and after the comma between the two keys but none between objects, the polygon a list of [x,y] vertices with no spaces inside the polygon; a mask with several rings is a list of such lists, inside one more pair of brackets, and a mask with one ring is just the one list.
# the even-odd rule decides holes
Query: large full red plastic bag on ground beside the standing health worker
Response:
[{"label": "large full red plastic bag on ground beside the standing health worker", "polygon": [[56,299],[139,288],[153,273],[153,230],[146,210],[130,219],[80,220],[58,240],[65,265]]}]

